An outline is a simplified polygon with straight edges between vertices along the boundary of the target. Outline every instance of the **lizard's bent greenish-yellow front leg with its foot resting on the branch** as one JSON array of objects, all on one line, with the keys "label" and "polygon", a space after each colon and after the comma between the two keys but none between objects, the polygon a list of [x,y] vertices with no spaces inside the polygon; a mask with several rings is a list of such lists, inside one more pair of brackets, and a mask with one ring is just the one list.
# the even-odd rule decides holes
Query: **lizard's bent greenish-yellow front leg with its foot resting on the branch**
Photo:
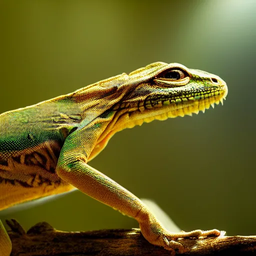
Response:
[{"label": "lizard's bent greenish-yellow front leg with its foot resting on the branch", "polygon": [[97,130],[99,127],[100,125],[91,124],[89,127],[77,129],[67,136],[56,168],[57,174],[63,180],[123,214],[135,218],[143,236],[150,243],[163,246],[168,250],[176,249],[180,253],[184,252],[183,246],[175,241],[177,238],[220,234],[220,231],[216,229],[169,232],[139,198],[89,166],[86,163],[90,152],[89,145],[95,143],[96,138],[93,137],[93,134],[99,133]]}]

